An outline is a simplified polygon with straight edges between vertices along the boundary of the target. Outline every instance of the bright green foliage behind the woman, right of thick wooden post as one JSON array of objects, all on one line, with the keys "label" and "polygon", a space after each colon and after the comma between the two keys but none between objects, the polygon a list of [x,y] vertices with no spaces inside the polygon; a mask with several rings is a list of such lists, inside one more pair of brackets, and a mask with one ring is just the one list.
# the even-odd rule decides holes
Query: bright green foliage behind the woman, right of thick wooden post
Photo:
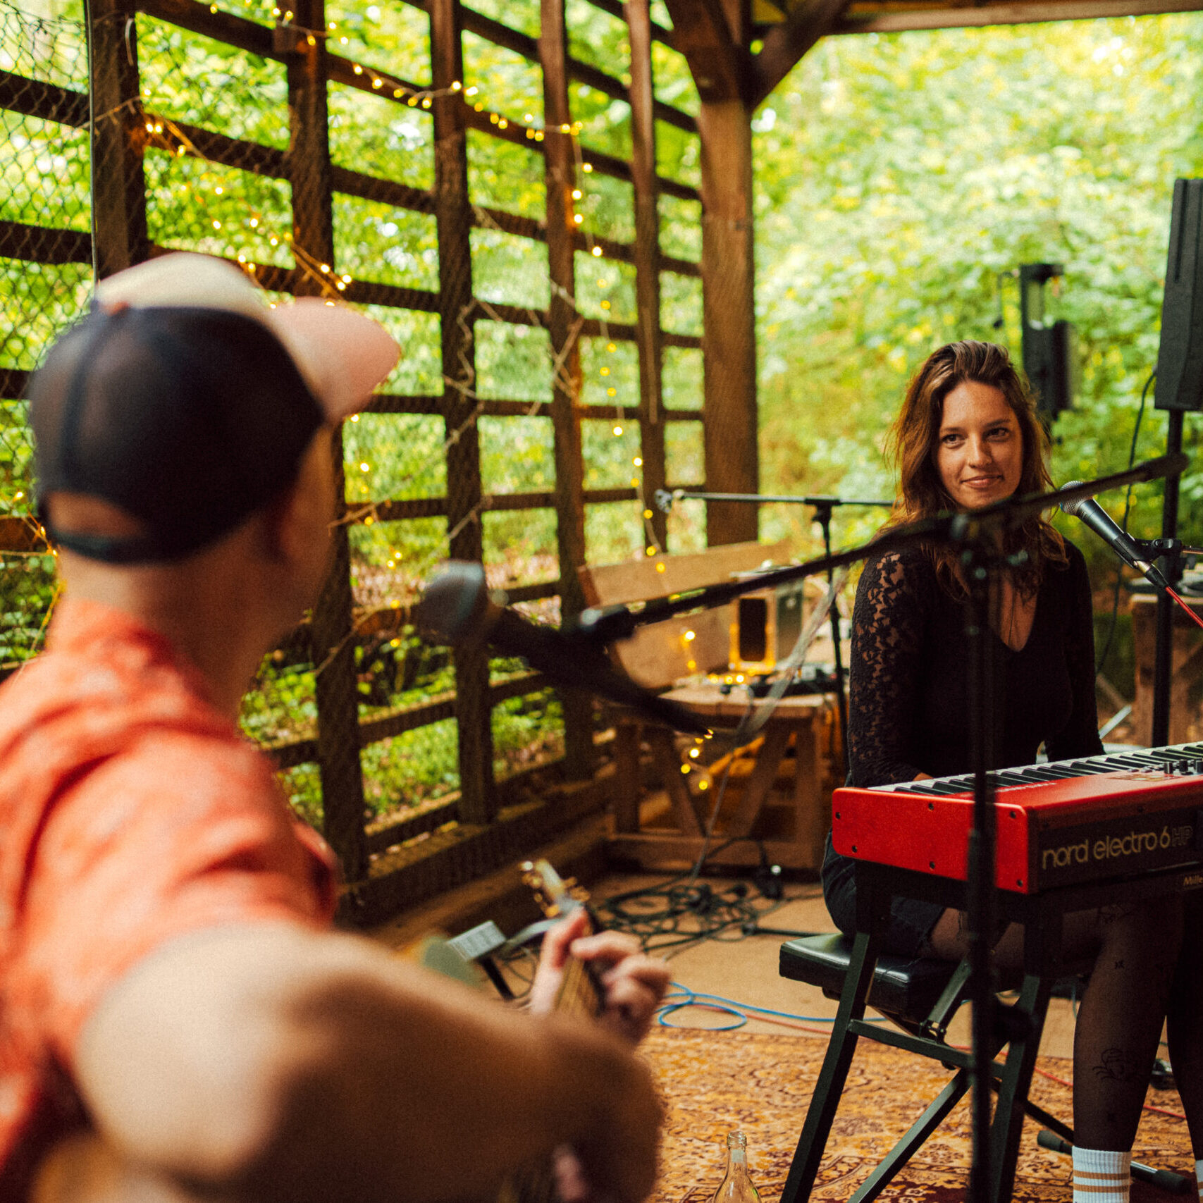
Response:
[{"label": "bright green foliage behind the woman, right of thick wooden post", "polygon": [[[1019,358],[1017,283],[1000,273],[1042,260],[1066,266],[1049,316],[1077,326],[1081,369],[1055,474],[1126,463],[1173,180],[1203,170],[1201,34],[1184,13],[830,38],[802,60],[757,119],[766,491],[891,496],[879,452],[907,379],[954,338]],[[1162,431],[1146,419],[1146,454]],[[1192,470],[1186,529],[1201,494]],[[1138,497],[1134,528],[1151,533],[1156,488]],[[878,520],[837,521],[851,539]],[[806,521],[776,511],[763,529]]]}]

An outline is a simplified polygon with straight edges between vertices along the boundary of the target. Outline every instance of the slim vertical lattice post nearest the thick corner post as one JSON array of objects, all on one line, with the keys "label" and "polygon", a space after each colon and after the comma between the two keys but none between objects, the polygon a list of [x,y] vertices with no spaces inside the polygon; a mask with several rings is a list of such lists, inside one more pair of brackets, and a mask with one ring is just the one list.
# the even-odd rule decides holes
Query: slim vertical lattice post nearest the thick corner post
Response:
[{"label": "slim vertical lattice post nearest the thick corner post", "polygon": [[656,180],[656,118],[652,93],[652,22],[647,0],[623,6],[630,35],[630,174],[635,184],[635,298],[639,346],[639,454],[644,461],[644,499],[652,511],[652,532],[666,549],[668,515],[652,504],[666,487],[660,368],[660,229]]}]

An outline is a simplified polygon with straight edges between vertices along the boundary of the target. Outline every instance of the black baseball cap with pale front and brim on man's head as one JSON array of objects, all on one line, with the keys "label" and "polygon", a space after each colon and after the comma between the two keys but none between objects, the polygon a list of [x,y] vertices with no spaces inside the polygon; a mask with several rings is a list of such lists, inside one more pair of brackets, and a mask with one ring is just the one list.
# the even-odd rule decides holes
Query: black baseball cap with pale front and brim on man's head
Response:
[{"label": "black baseball cap with pale front and brim on man's head", "polygon": [[[361,408],[398,354],[365,314],[318,297],[273,308],[208,255],[118,272],[30,384],[42,522],[93,559],[183,558],[290,485],[319,427]],[[142,532],[53,528],[54,492],[109,502]]]}]

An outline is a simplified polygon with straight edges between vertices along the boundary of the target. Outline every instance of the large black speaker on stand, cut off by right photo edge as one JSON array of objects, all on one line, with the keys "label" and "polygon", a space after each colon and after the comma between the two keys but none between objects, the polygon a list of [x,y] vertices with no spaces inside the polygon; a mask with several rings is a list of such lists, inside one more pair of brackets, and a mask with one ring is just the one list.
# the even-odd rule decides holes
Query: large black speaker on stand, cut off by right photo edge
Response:
[{"label": "large black speaker on stand, cut off by right photo edge", "polygon": [[1174,180],[1154,405],[1203,409],[1203,179]]}]

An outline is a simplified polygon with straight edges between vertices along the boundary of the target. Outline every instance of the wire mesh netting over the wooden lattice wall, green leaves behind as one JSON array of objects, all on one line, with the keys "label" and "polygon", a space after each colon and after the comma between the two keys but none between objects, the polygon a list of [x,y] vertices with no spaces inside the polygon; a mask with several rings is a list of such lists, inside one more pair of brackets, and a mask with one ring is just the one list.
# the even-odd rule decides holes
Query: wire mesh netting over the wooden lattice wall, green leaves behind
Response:
[{"label": "wire mesh netting over the wooden lattice wall, green leaves behind", "polygon": [[[557,389],[603,407],[586,411],[582,432],[585,487],[606,493],[586,509],[587,556],[623,558],[654,541],[633,340],[634,189],[594,171],[589,159],[630,155],[630,105],[587,84],[570,87],[573,122],[564,131],[577,243],[574,273],[553,282],[537,53],[466,32],[463,79],[439,89],[429,18],[417,6],[331,2],[325,29],[286,25],[283,41],[279,22],[290,14],[282,18],[265,0],[203,6],[242,19],[231,35],[239,46],[195,32],[186,19],[168,22],[166,10],[155,16],[153,4],[142,7],[97,24],[90,103],[82,6],[48,19],[0,0],[0,662],[12,666],[36,652],[57,595],[53,555],[30,517],[20,396],[46,346],[87,306],[94,220],[102,274],[160,248],[219,255],[243,265],[273,300],[308,292],[361,306],[403,348],[385,396],[343,435],[356,710],[369,733],[384,733],[362,749],[363,798],[379,816],[451,794],[461,784],[461,735],[448,709],[455,671],[445,648],[419,642],[408,608],[466,535],[498,588],[553,594],[562,571],[573,570],[559,562],[563,516],[553,504]],[[481,2],[478,11],[539,36],[538,4]],[[583,0],[571,0],[568,16],[569,53],[629,83],[624,24]],[[290,37],[302,55],[318,38],[331,52],[322,94],[302,95],[303,103],[294,96],[291,107],[291,60],[280,51]],[[656,60],[665,75],[659,97],[688,108],[683,60],[660,48]],[[440,244],[435,126],[449,101],[464,105],[469,118],[480,114],[481,128],[466,134],[463,220],[442,229]],[[689,147],[691,136],[675,130],[660,170],[688,180],[697,162]],[[320,170],[290,166],[304,155]],[[700,207],[660,201],[665,253],[697,259],[697,237],[685,226],[697,224]],[[664,325],[695,336],[697,278],[663,278]],[[567,302],[569,318],[567,336],[553,337],[549,308],[557,301]],[[664,367],[664,403],[698,409],[700,351],[670,348]],[[687,474],[678,482],[700,481],[700,425],[671,427],[682,429],[670,429],[670,476],[678,462]],[[479,468],[466,476],[464,464]],[[686,550],[699,522],[688,514],[671,521]],[[528,608],[559,618],[556,595]],[[266,657],[241,721],[253,739],[284,749],[294,804],[320,824],[315,678],[328,657],[314,659],[303,629]],[[564,747],[556,695],[544,686],[521,692],[525,674],[520,662],[491,665],[502,691],[490,731],[498,776]],[[354,745],[354,733],[348,740]]]}]

